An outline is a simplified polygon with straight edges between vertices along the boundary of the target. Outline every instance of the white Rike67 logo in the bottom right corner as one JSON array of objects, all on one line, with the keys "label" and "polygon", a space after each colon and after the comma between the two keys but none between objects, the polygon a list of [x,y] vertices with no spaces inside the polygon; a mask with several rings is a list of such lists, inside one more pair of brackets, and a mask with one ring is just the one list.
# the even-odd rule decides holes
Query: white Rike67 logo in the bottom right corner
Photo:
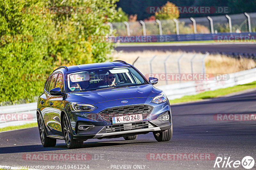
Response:
[{"label": "white Rike67 logo in the bottom right corner", "polygon": [[214,163],[214,168],[238,168],[239,166],[243,166],[245,169],[251,169],[254,166],[254,159],[251,156],[245,156],[242,161],[240,160],[230,160],[230,157],[228,159],[225,157],[222,159],[221,157],[217,157]]}]

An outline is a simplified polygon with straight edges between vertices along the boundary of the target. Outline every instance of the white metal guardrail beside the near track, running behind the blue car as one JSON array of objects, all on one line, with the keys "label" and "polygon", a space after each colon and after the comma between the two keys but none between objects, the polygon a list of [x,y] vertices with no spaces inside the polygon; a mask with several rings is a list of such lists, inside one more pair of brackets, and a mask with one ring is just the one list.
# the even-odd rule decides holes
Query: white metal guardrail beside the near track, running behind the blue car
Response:
[{"label": "white metal guardrail beside the near track, running behind the blue car", "polygon": [[[239,84],[256,81],[256,68],[229,74],[229,79],[225,81],[190,81],[184,83],[158,86],[164,91],[168,99],[176,99],[186,95],[195,95],[208,90],[232,87]],[[0,128],[13,125],[21,125],[36,122],[36,103],[17,104],[0,107],[0,117],[2,114],[32,114],[32,121],[0,121]]]}]

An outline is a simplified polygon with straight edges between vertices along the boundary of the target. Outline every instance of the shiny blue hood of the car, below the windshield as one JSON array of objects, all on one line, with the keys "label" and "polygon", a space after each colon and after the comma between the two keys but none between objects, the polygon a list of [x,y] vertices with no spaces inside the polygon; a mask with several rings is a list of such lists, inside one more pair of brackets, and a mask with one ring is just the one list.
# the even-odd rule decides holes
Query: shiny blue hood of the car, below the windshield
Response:
[{"label": "shiny blue hood of the car, below the windshield", "polygon": [[87,104],[96,104],[112,100],[155,97],[162,90],[156,89],[152,84],[119,87],[114,89],[99,89],[87,92],[68,93],[67,100]]}]

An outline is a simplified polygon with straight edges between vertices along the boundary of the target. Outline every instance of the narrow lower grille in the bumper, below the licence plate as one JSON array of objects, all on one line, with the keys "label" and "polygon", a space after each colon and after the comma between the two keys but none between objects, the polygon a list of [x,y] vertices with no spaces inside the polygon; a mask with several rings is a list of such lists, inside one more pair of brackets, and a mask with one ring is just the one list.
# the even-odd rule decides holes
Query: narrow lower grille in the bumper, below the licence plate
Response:
[{"label": "narrow lower grille in the bumper, below the licence plate", "polygon": [[145,128],[148,128],[148,122],[106,126],[106,131],[107,133],[109,133],[109,132],[130,131],[130,130],[145,129]]}]

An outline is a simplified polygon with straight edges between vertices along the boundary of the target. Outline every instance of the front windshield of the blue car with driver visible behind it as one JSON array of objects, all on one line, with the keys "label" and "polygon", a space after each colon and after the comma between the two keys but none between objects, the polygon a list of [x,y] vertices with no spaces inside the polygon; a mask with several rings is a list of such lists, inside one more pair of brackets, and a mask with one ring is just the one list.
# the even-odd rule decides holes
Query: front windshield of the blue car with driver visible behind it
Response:
[{"label": "front windshield of the blue car with driver visible behind it", "polygon": [[148,84],[132,67],[108,67],[68,74],[68,92]]}]

